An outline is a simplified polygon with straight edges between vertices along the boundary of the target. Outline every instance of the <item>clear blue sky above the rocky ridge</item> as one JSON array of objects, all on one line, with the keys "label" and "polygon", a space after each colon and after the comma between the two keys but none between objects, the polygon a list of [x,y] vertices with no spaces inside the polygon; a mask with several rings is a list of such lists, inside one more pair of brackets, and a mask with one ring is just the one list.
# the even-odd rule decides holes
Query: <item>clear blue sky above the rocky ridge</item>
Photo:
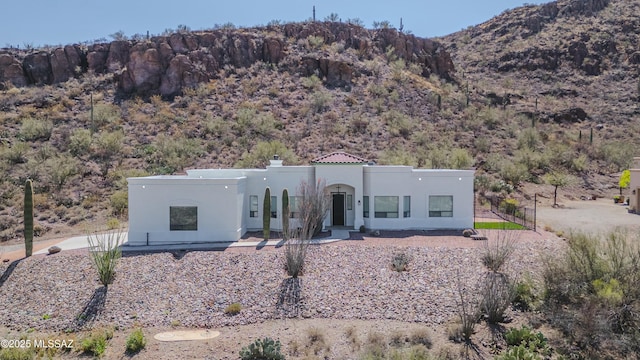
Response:
[{"label": "clear blue sky above the rocky ridge", "polygon": [[366,27],[387,20],[422,37],[434,37],[482,23],[506,9],[532,0],[29,0],[3,1],[0,47],[26,44],[59,45],[99,38],[123,31],[160,34],[184,24],[193,30],[231,22],[236,26],[266,24],[270,20],[302,21],[330,13],[340,18],[360,18]]}]

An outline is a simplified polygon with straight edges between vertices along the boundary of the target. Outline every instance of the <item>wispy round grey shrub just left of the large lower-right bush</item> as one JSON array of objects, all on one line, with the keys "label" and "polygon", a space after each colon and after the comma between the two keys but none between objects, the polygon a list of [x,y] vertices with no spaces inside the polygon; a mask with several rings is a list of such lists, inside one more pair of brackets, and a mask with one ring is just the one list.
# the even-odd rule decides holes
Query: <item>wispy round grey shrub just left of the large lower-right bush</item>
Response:
[{"label": "wispy round grey shrub just left of the large lower-right bush", "polygon": [[482,281],[480,291],[480,309],[487,322],[503,322],[514,294],[509,278],[505,274],[489,272]]}]

